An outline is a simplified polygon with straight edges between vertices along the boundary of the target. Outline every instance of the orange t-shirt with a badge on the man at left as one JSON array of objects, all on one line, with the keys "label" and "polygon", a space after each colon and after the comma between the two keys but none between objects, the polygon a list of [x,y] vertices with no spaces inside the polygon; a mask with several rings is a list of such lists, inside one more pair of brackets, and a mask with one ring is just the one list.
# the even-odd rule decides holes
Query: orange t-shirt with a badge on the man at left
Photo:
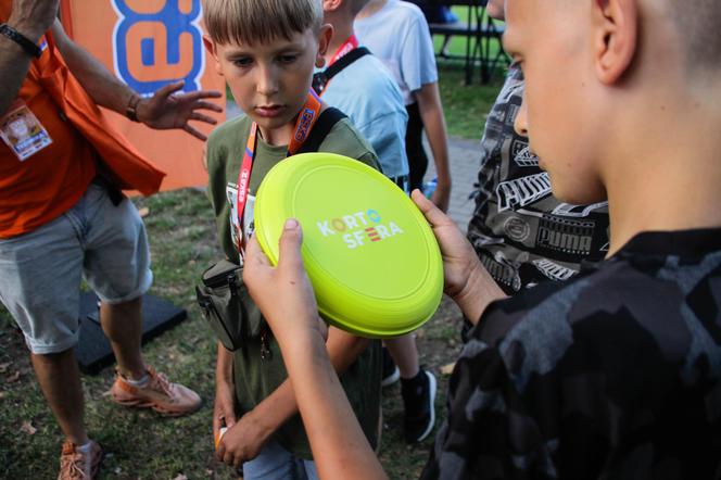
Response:
[{"label": "orange t-shirt with a badge on the man at left", "polygon": [[[0,22],[10,3],[0,0]],[[15,102],[0,114],[0,238],[31,231],[73,206],[96,175],[96,157],[124,190],[150,195],[165,177],[105,119],[51,33],[43,40]]]}]

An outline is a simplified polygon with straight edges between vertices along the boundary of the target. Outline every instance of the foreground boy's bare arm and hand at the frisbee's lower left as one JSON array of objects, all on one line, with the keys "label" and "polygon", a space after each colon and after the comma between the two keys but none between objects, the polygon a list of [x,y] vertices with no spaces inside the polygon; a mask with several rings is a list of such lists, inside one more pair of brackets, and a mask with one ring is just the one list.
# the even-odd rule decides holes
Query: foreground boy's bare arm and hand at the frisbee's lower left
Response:
[{"label": "foreground boy's bare arm and hand at the frisbee's lower left", "polygon": [[[252,239],[246,250],[243,280],[282,351],[289,384],[293,388],[320,477],[384,478],[328,353],[338,349],[342,355],[336,357],[337,364],[350,365],[350,359],[359,355],[368,340],[331,329],[326,342],[326,329],[303,268],[302,239],[298,222],[287,220],[277,267],[270,266],[257,240]],[[278,298],[283,302],[278,302]],[[351,348],[345,346],[349,338]]]}]

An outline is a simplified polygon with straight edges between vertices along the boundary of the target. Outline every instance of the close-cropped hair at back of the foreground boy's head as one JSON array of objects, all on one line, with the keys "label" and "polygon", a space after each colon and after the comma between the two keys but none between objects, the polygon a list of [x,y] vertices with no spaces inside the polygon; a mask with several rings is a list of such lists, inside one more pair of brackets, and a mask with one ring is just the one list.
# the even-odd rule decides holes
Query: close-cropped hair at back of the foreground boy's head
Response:
[{"label": "close-cropped hair at back of the foreground boy's head", "polygon": [[690,70],[721,67],[721,0],[668,0]]}]

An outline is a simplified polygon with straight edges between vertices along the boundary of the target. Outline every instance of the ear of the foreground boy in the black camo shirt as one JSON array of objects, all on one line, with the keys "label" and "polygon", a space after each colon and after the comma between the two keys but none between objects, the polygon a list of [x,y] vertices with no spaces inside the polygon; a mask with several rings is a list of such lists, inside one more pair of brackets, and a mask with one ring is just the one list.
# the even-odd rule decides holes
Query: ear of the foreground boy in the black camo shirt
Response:
[{"label": "ear of the foreground boy in the black camo shirt", "polygon": [[637,0],[593,0],[593,35],[596,75],[603,84],[615,84],[636,53]]}]

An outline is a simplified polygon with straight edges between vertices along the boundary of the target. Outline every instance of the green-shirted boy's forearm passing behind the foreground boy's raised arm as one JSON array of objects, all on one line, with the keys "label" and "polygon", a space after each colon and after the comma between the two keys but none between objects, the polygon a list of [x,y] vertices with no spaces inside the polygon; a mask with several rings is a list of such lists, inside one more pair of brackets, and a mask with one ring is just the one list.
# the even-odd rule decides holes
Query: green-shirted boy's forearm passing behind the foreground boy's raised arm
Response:
[{"label": "green-shirted boy's forearm passing behind the foreground boy's raised arm", "polygon": [[[369,340],[352,336],[337,328],[330,328],[326,349],[333,369],[343,374],[366,350]],[[284,358],[283,358],[284,359]],[[286,363],[286,368],[288,364]],[[299,412],[298,402],[290,380],[286,380],[270,395],[263,400],[252,415],[273,433]]]}]

